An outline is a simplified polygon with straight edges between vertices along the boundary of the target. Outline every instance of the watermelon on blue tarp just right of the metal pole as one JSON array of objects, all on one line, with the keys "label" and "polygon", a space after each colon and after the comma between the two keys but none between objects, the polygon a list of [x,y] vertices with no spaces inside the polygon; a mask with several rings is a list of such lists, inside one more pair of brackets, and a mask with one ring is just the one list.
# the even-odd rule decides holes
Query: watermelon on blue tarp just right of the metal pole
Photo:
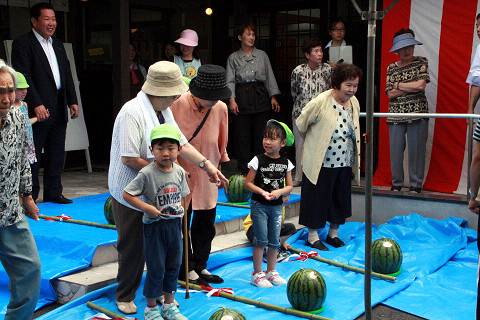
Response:
[{"label": "watermelon on blue tarp just right of the metal pole", "polygon": [[385,237],[372,243],[372,270],[392,274],[402,266],[402,249],[398,243]]}]

